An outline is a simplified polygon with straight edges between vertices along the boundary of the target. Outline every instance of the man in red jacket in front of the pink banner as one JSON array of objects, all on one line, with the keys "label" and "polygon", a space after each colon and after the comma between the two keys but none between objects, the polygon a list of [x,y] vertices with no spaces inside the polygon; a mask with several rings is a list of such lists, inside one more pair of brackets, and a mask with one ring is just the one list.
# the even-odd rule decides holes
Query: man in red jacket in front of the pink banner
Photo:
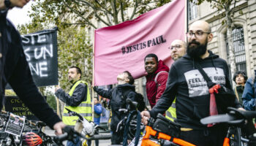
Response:
[{"label": "man in red jacket in front of the pink banner", "polygon": [[158,61],[155,54],[148,54],[144,58],[146,75],[146,93],[151,108],[165,91],[169,68],[162,60]]}]

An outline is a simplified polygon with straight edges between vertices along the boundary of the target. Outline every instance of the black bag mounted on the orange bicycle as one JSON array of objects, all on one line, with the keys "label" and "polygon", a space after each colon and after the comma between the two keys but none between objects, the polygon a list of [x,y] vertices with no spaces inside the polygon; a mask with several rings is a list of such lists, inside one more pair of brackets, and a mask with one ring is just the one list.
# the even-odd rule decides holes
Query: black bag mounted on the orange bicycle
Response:
[{"label": "black bag mounted on the orange bicycle", "polygon": [[179,134],[181,134],[181,125],[168,120],[161,114],[157,115],[157,120],[152,128],[156,131],[170,135],[170,137],[178,137]]}]

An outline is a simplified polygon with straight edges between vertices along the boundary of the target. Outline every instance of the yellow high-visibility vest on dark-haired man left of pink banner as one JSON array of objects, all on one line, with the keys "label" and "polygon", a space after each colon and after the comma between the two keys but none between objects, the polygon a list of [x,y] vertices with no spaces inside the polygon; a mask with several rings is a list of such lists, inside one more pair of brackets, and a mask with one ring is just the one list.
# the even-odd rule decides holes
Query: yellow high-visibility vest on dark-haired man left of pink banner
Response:
[{"label": "yellow high-visibility vest on dark-haired man left of pink banner", "polygon": [[86,101],[82,101],[78,105],[78,107],[71,107],[65,104],[63,115],[62,115],[62,121],[63,123],[69,126],[75,126],[76,120],[78,120],[78,116],[69,116],[65,107],[69,110],[72,110],[73,112],[77,112],[79,115],[82,115],[83,118],[86,118],[86,120],[92,121],[91,96],[89,93],[89,87],[87,82],[83,80],[79,80],[78,82],[75,82],[75,85],[73,85],[71,90],[69,91],[69,96],[72,96],[72,94],[75,91],[75,88],[80,84],[80,82],[83,82],[87,86],[87,95],[86,95],[87,99]]}]

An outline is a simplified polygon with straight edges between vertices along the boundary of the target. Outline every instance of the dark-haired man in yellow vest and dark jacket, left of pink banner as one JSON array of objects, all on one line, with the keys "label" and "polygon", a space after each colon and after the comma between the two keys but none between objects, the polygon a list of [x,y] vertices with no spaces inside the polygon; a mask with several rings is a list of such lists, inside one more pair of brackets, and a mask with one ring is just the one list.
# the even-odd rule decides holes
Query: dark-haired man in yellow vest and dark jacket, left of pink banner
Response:
[{"label": "dark-haired man in yellow vest and dark jacket, left of pink banner", "polygon": [[[89,86],[87,82],[80,80],[81,75],[81,69],[78,66],[72,66],[68,71],[68,79],[69,82],[72,83],[69,93],[66,93],[63,89],[59,88],[59,86],[55,88],[55,95],[65,103],[62,120],[68,126],[75,126],[78,117],[69,116],[65,108],[77,112],[82,115],[83,118],[86,118],[86,120],[92,120]],[[75,143],[67,141],[67,146],[76,145],[80,145],[79,137],[75,139]]]}]

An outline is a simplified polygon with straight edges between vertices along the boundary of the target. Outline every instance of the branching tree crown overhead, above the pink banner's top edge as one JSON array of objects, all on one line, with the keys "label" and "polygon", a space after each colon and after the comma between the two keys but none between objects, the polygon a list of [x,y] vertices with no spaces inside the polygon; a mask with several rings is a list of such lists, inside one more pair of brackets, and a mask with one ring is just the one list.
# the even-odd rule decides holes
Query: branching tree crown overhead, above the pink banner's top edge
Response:
[{"label": "branching tree crown overhead, above the pink banner's top edge", "polygon": [[[95,20],[105,26],[113,26],[168,2],[170,0],[39,0],[33,4],[30,16],[40,18],[41,22],[50,18],[57,25],[98,28]],[[72,23],[69,23],[70,20]]]}]

